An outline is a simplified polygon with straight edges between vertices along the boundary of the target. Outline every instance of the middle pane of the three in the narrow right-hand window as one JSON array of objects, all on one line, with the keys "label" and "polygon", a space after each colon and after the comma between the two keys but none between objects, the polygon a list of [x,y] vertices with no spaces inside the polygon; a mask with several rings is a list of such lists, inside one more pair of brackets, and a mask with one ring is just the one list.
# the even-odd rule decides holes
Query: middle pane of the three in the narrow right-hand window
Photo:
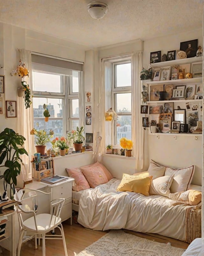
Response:
[{"label": "middle pane of the three in the narrow right-hand window", "polygon": [[131,93],[116,94],[116,112],[131,113]]}]

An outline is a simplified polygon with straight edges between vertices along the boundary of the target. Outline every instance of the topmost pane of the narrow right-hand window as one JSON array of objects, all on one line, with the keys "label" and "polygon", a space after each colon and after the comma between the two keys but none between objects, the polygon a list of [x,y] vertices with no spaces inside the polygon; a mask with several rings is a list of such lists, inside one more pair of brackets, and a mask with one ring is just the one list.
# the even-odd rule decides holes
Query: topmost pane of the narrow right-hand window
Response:
[{"label": "topmost pane of the narrow right-hand window", "polygon": [[131,86],[131,63],[116,65],[116,87]]}]

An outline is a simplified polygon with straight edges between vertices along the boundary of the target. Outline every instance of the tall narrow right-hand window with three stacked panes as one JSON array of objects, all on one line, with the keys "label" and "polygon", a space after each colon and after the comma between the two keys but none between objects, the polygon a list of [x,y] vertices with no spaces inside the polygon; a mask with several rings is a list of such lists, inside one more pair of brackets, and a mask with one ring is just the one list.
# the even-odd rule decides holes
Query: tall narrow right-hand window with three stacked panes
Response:
[{"label": "tall narrow right-hand window with three stacked panes", "polygon": [[110,60],[106,63],[105,76],[106,106],[113,107],[118,115],[113,127],[106,124],[106,144],[116,145],[122,137],[131,139],[131,59]]}]

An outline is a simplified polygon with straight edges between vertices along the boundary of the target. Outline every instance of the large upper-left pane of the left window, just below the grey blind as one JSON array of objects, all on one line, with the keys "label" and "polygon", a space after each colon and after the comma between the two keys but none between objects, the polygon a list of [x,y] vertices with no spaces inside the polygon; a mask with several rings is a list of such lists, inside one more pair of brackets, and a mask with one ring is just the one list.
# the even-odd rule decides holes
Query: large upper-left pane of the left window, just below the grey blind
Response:
[{"label": "large upper-left pane of the left window, just below the grey blind", "polygon": [[33,71],[33,91],[63,92],[60,75]]}]

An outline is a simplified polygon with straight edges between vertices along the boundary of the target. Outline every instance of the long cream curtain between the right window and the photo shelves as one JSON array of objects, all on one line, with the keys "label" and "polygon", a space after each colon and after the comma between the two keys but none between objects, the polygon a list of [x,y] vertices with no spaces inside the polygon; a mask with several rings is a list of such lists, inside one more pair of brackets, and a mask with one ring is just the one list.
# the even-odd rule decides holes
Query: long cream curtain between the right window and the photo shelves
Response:
[{"label": "long cream curtain between the right window and the photo shelves", "polygon": [[132,139],[133,156],[136,158],[136,169],[141,170],[144,165],[144,130],[142,128],[141,106],[141,81],[142,52],[132,54]]}]

